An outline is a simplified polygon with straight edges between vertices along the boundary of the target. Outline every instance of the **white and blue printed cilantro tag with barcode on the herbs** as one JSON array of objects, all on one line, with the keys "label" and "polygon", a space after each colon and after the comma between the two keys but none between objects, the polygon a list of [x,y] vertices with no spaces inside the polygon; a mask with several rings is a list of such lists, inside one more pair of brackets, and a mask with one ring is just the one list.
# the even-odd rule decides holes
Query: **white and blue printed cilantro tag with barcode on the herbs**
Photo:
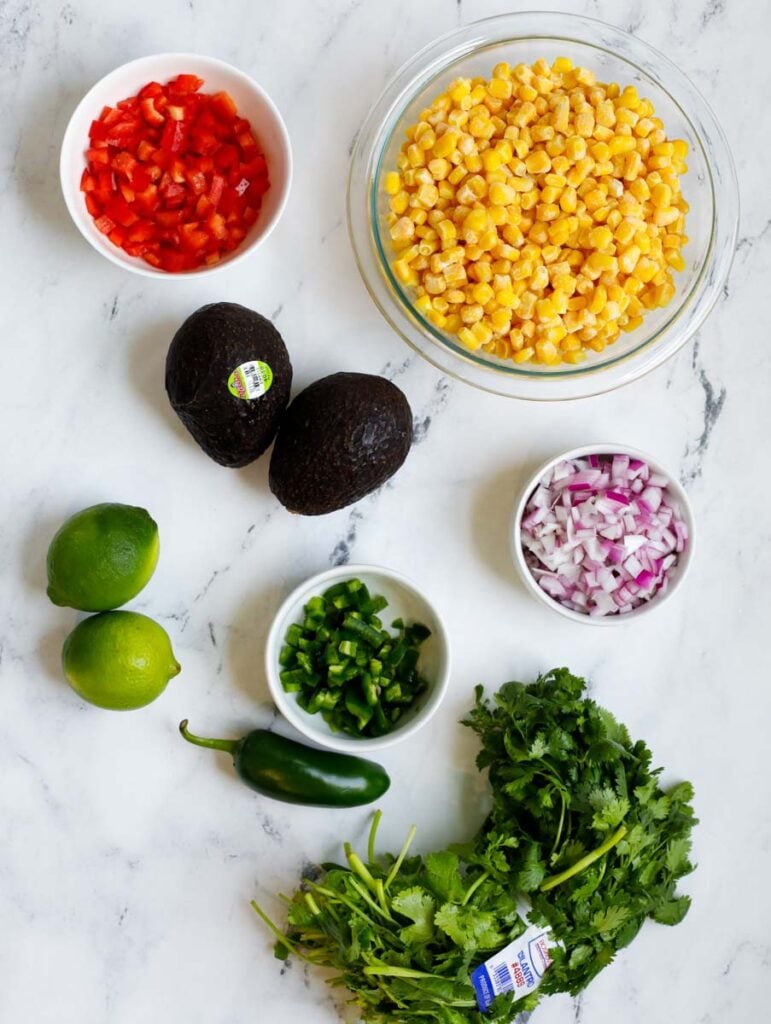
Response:
[{"label": "white and blue printed cilantro tag with barcode on the herbs", "polygon": [[514,992],[521,999],[534,992],[552,964],[549,950],[557,943],[548,928],[536,925],[494,953],[471,975],[476,1001],[485,1013],[497,995]]}]

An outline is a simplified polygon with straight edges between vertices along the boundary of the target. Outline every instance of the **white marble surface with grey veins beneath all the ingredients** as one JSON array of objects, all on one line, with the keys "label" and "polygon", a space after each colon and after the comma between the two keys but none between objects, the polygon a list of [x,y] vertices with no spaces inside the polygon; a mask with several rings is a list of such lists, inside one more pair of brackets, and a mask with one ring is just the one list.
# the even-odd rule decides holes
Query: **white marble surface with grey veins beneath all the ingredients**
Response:
[{"label": "white marble surface with grey veins beneath all the ingredients", "polygon": [[[348,151],[395,69],[495,0],[86,0],[0,5],[0,1021],[252,1024],[338,1013],[318,978],[283,971],[249,908],[289,890],[304,862],[360,840],[366,810],[270,803],[202,731],[270,722],[261,671],[283,595],[336,560],[402,569],[441,601],[455,640],[445,706],[388,753],[383,840],[411,822],[425,850],[481,814],[474,744],[456,725],[472,685],[567,664],[693,779],[701,825],[693,909],[648,926],[577,1001],[538,1024],[739,1024],[771,996],[768,580],[771,273],[767,112],[771,9],[738,0],[564,2],[665,49],[723,121],[741,184],[739,252],[695,343],[636,385],[560,407],[517,403],[440,378],[372,306],[344,224]],[[541,6],[531,0],[529,6]],[[552,6],[548,3],[544,6]],[[210,282],[143,281],[92,252],[56,178],[67,118],[115,66],[197,50],[244,68],[285,114],[295,146],[290,210],[264,249]],[[208,461],[170,413],[163,362],[205,301],[272,316],[298,387],[338,369],[398,372],[420,424],[381,494],[323,519],[286,514],[266,462]],[[694,503],[699,551],[681,597],[624,630],[559,620],[522,591],[506,526],[524,473],[593,438],[654,453]],[[44,593],[48,540],[71,512],[146,506],[163,554],[133,603],[171,634],[180,677],[148,709],[81,703],[58,670],[75,614]],[[416,779],[421,784],[416,785]]]}]

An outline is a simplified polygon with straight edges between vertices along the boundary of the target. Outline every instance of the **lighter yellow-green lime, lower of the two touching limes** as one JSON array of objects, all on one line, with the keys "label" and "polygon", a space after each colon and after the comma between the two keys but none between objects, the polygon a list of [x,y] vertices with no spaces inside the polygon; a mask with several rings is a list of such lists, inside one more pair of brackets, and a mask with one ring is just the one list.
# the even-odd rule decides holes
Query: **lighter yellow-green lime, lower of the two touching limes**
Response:
[{"label": "lighter yellow-green lime, lower of the two touching limes", "polygon": [[72,688],[99,708],[143,708],[179,672],[166,630],[136,611],[103,611],[75,627],[61,666]]}]

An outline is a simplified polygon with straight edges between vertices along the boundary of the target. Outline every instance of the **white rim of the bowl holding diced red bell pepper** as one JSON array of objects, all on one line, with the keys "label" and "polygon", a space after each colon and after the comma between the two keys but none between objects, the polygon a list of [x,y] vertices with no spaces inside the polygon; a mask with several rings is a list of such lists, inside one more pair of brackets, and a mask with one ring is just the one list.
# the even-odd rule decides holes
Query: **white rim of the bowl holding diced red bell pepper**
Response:
[{"label": "white rim of the bowl holding diced red bell pepper", "polygon": [[[245,239],[242,246],[233,250],[229,258],[220,260],[218,263],[214,263],[211,266],[198,267],[195,270],[162,270],[155,267],[151,267],[139,260],[139,257],[125,256],[121,257],[118,253],[114,253],[111,249],[102,249],[96,245],[96,240],[91,237],[91,233],[84,229],[84,224],[81,220],[80,211],[76,208],[77,198],[80,196],[80,190],[77,184],[74,184],[70,180],[69,169],[66,166],[68,159],[73,151],[73,148],[79,144],[75,137],[76,128],[75,122],[79,115],[83,113],[84,110],[89,106],[98,106],[98,103],[94,103],[94,97],[97,96],[104,87],[111,85],[112,81],[118,79],[127,71],[140,71],[143,68],[153,68],[160,61],[172,61],[184,65],[185,62],[191,63],[197,61],[202,68],[216,68],[218,71],[223,72],[226,75],[231,76],[238,80],[241,85],[246,89],[255,93],[264,102],[266,110],[268,111],[279,133],[281,139],[282,148],[284,151],[283,156],[286,162],[286,173],[283,178],[281,185],[280,200],[276,204],[275,210],[273,211],[272,217],[266,222],[262,230],[255,234],[253,239]],[[117,100],[116,100],[117,101]],[[84,163],[85,167],[85,163]],[[202,278],[204,275],[209,275],[216,273],[220,270],[224,270],[226,267],[234,266],[235,263],[241,262],[246,256],[253,253],[258,249],[262,243],[271,234],[275,225],[279,223],[284,211],[287,207],[289,200],[289,194],[292,187],[292,178],[294,173],[294,163],[292,155],[292,142],[289,136],[289,130],[287,128],[286,122],[282,117],[279,108],[275,105],[273,100],[270,98],[266,90],[256,82],[250,75],[246,72],[241,71],[240,68],[235,68],[233,65],[228,63],[226,60],[221,60],[219,57],[210,57],[204,53],[192,53],[184,51],[169,51],[169,52],[158,52],[158,53],[147,53],[144,56],[135,57],[133,60],[127,60],[125,63],[119,65],[112,71],[108,72],[98,79],[94,84],[87,90],[87,92],[82,96],[75,106],[73,113],[67,122],[67,127],[65,128],[63,135],[61,136],[61,145],[59,148],[59,187],[61,189],[61,195],[65,200],[65,205],[67,206],[68,213],[72,219],[75,226],[80,231],[81,236],[88,242],[91,248],[97,252],[100,256],[109,259],[116,266],[120,266],[124,270],[128,270],[131,273],[139,274],[143,278],[152,278],[156,281],[188,281],[192,278]],[[273,182],[270,182],[270,187],[274,187]]]}]

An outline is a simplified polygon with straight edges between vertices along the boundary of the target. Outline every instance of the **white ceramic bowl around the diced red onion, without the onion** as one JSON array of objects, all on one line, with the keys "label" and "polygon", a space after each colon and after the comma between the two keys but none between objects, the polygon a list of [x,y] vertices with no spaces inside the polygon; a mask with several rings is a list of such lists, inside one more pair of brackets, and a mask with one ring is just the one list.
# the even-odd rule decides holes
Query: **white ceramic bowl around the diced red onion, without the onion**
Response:
[{"label": "white ceramic bowl around the diced red onion, without the onion", "polygon": [[[646,601],[644,604],[639,605],[639,607],[624,614],[589,615],[581,611],[573,611],[572,608],[566,608],[564,605],[560,604],[559,601],[555,600],[555,598],[547,594],[545,590],[542,590],[542,588],[539,587],[532,573],[530,572],[529,566],[527,565],[524,557],[524,551],[522,549],[522,516],[524,514],[527,501],[538,486],[542,477],[548,473],[550,469],[556,466],[558,462],[563,462],[568,459],[582,459],[588,455],[629,455],[635,459],[641,459],[643,462],[646,462],[655,473],[660,473],[670,481],[667,487],[670,493],[670,498],[678,507],[678,511],[688,527],[688,543],[686,544],[685,551],[679,556],[677,562],[672,568],[672,572],[670,573],[670,583],[665,593],[655,594],[650,601]],[[514,508],[514,517],[512,519],[510,530],[511,556],[514,559],[514,564],[519,570],[519,574],[522,578],[527,590],[533,595],[533,597],[537,597],[544,604],[548,605],[548,607],[553,608],[554,611],[559,611],[561,615],[572,620],[574,623],[584,623],[587,626],[622,626],[626,623],[640,618],[642,615],[649,614],[651,611],[659,608],[666,601],[669,601],[673,594],[680,589],[683,580],[688,572],[688,568],[690,567],[691,560],[693,558],[693,510],[691,509],[691,503],[688,500],[688,495],[679,483],[677,477],[670,473],[668,469],[661,466],[661,464],[655,459],[651,458],[651,456],[649,456],[646,452],[641,452],[639,449],[632,447],[630,444],[602,442],[598,442],[596,444],[583,444],[581,447],[570,449],[570,451],[563,452],[554,459],[550,459],[549,462],[545,462],[544,465],[532,474],[523,487],[519,501]]]}]

